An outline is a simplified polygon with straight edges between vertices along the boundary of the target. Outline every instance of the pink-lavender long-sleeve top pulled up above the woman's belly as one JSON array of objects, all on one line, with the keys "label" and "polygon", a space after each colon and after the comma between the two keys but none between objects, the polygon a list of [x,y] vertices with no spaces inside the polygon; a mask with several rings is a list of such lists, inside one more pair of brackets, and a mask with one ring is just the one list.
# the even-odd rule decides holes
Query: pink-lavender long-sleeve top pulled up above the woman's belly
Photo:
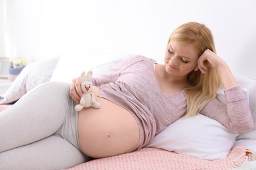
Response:
[{"label": "pink-lavender long-sleeve top pulled up above the woman's belly", "polygon": [[[129,110],[137,120],[140,129],[137,148],[148,144],[160,131],[184,116],[187,109],[183,91],[174,95],[161,92],[154,63],[154,59],[131,56],[92,80],[100,88],[99,97]],[[200,113],[232,131],[250,129],[253,118],[242,88],[236,86],[224,93],[226,104],[213,99]]]}]

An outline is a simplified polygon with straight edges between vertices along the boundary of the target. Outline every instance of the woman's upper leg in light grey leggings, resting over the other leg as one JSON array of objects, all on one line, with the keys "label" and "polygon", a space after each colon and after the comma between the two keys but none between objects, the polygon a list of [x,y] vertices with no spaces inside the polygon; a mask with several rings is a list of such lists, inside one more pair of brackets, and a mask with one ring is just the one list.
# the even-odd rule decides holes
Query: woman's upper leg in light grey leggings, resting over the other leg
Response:
[{"label": "woman's upper leg in light grey leggings, resting over the other leg", "polygon": [[28,92],[0,114],[0,152],[33,143],[62,126],[70,103],[70,84],[48,82]]}]

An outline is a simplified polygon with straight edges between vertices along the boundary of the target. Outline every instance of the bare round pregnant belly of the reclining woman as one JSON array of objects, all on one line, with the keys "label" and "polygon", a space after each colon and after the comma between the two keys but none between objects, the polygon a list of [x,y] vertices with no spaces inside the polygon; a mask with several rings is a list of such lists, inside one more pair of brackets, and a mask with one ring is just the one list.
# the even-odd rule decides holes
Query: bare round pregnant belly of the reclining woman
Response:
[{"label": "bare round pregnant belly of the reclining woman", "polygon": [[139,142],[139,127],[132,114],[106,99],[97,97],[100,109],[83,109],[78,114],[78,137],[87,156],[103,158],[135,150]]}]

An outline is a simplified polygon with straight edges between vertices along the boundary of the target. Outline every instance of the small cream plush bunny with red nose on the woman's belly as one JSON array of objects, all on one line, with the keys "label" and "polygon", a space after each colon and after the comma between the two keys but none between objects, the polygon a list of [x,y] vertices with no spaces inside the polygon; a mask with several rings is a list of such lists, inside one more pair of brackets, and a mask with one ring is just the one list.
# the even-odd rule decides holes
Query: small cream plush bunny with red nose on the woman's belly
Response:
[{"label": "small cream plush bunny with red nose on the woman's belly", "polygon": [[93,71],[88,71],[87,76],[85,72],[81,73],[81,90],[83,96],[80,99],[80,104],[75,106],[75,110],[79,112],[83,107],[95,107],[96,109],[100,108],[100,103],[96,102],[95,95],[93,94],[93,83],[91,78],[93,76]]}]

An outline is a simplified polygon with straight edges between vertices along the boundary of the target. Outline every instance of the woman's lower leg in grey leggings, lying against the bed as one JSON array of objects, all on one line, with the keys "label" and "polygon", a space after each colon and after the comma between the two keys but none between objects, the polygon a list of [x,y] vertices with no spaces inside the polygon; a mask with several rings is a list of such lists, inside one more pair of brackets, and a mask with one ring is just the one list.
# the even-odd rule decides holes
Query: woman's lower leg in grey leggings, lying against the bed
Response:
[{"label": "woman's lower leg in grey leggings, lying against the bed", "polygon": [[0,169],[67,169],[85,161],[75,146],[56,136],[0,153]]}]

